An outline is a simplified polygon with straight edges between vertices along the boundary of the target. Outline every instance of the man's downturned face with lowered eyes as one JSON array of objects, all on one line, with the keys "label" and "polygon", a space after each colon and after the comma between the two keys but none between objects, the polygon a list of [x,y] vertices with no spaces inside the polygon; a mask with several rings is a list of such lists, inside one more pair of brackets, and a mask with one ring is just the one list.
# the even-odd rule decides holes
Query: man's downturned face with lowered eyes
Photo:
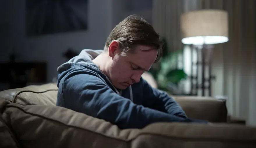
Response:
[{"label": "man's downturned face with lowered eyes", "polygon": [[140,81],[141,75],[148,71],[157,57],[157,50],[151,46],[137,45],[134,52],[120,55],[116,50],[109,67],[109,79],[118,89],[126,89]]}]

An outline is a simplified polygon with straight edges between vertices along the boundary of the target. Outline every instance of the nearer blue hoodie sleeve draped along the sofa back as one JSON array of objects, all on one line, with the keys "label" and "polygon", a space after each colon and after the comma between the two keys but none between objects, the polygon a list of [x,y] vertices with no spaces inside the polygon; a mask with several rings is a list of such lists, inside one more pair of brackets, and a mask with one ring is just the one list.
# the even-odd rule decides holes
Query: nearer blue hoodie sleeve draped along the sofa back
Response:
[{"label": "nearer blue hoodie sleeve draped along the sofa back", "polygon": [[57,102],[61,106],[106,120],[121,129],[143,128],[154,122],[191,122],[189,119],[136,105],[116,94],[97,73],[81,67],[71,67],[60,80],[58,95]]}]

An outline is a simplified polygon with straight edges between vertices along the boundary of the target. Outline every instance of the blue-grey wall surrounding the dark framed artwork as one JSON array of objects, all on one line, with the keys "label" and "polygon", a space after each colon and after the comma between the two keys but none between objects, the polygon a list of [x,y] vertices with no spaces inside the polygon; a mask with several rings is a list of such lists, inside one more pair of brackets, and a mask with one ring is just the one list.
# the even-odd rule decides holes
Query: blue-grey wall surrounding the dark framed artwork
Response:
[{"label": "blue-grey wall surrounding the dark framed artwork", "polygon": [[[0,62],[8,60],[10,49],[15,47],[19,55],[18,61],[45,61],[48,63],[48,82],[57,76],[57,66],[66,62],[62,53],[71,47],[77,52],[84,48],[103,49],[105,40],[112,28],[112,0],[89,0],[88,30],[44,35],[38,37],[25,36],[25,0],[8,0],[0,2],[1,21],[10,26],[1,34],[2,42]],[[2,29],[4,30],[4,29]],[[3,41],[6,35],[9,43]],[[2,48],[3,47],[3,48]]]}]

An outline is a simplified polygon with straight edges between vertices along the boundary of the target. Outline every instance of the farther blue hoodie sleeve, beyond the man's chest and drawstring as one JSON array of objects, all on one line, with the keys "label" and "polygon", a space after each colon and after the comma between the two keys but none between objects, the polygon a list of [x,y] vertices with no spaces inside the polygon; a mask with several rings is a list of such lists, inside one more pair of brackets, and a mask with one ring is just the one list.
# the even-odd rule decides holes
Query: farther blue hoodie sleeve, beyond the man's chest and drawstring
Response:
[{"label": "farther blue hoodie sleeve, beyond the man's chest and drawstring", "polygon": [[141,78],[143,89],[143,105],[149,108],[163,111],[181,118],[188,118],[179,104],[166,92],[152,88]]}]

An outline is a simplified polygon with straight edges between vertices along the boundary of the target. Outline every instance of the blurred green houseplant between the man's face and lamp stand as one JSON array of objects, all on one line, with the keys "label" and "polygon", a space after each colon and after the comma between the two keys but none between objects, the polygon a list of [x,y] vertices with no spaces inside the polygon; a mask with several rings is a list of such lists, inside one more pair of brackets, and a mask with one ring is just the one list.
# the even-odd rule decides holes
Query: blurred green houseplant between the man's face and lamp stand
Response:
[{"label": "blurred green houseplant between the man's face and lamp stand", "polygon": [[179,82],[187,77],[183,69],[177,68],[177,59],[183,50],[170,52],[165,38],[163,38],[163,43],[163,56],[158,63],[153,64],[149,73],[157,81],[159,89],[175,94],[173,87],[177,87]]}]

